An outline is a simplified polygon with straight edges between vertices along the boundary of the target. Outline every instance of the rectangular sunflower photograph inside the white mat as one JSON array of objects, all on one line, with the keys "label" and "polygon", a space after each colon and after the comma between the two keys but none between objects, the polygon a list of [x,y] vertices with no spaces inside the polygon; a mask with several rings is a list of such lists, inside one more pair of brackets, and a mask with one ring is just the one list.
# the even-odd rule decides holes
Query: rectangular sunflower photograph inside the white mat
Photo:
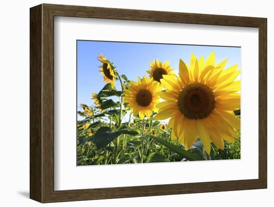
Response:
[{"label": "rectangular sunflower photograph inside the white mat", "polygon": [[241,47],[77,40],[77,165],[241,159]]}]

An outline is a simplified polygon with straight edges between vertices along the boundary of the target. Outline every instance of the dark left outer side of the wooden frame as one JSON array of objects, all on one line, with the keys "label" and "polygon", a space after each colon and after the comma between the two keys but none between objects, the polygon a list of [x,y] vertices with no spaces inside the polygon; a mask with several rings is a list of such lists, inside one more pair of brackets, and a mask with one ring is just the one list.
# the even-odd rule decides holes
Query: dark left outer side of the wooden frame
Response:
[{"label": "dark left outer side of the wooden frame", "polygon": [[30,193],[35,201],[42,201],[42,6],[30,9]]}]

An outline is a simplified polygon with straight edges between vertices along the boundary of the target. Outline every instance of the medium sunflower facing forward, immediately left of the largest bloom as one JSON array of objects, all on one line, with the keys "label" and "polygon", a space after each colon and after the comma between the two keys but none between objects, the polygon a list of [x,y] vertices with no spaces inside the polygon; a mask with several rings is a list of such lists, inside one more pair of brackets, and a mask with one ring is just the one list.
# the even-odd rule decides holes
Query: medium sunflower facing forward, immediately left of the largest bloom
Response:
[{"label": "medium sunflower facing forward, immediately left of the largest bloom", "polygon": [[132,113],[139,114],[140,119],[146,116],[148,119],[153,111],[157,111],[156,104],[159,103],[158,92],[161,91],[160,84],[151,78],[138,77],[138,83],[130,81],[130,86],[125,89],[124,102],[129,103]]}]

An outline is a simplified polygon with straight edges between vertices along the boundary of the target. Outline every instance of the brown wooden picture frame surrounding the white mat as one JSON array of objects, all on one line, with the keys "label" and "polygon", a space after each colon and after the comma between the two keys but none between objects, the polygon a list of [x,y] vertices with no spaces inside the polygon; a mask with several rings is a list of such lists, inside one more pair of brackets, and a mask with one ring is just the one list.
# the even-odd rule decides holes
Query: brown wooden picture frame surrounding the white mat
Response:
[{"label": "brown wooden picture frame surrounding the white mat", "polygon": [[[259,28],[259,179],[54,191],[54,16]],[[267,19],[40,4],[30,8],[30,199],[41,203],[267,188]]]}]

